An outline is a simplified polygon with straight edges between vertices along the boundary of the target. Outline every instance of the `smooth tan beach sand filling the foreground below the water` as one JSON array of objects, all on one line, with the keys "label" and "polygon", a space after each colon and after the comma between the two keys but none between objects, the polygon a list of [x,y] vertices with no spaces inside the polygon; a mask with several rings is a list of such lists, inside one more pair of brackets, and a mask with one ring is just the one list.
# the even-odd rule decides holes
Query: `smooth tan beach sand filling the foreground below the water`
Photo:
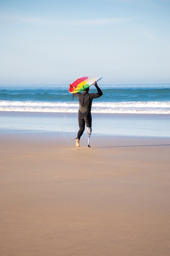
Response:
[{"label": "smooth tan beach sand filling the foreground below the water", "polygon": [[86,136],[1,132],[1,256],[170,255],[170,138]]}]

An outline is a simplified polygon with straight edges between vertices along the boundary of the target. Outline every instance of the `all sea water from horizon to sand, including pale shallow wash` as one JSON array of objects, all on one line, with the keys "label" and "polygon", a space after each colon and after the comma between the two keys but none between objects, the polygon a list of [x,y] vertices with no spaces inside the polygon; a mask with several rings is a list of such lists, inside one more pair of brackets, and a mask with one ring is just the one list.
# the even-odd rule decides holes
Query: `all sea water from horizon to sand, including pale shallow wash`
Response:
[{"label": "all sea water from horizon to sand, including pale shallow wash", "polygon": [[[93,132],[170,137],[170,84],[99,84],[99,87],[103,96],[93,100]],[[92,85],[90,93],[95,92]],[[39,112],[42,115],[41,121],[36,115],[40,123],[37,129],[63,130],[64,122],[64,130],[75,132],[78,109],[78,100],[68,92],[68,85],[0,85],[0,128],[16,126],[21,117],[14,115],[16,112],[22,112],[24,123],[20,127],[35,128],[30,115]],[[5,117],[2,115],[5,112],[10,114]]]}]

